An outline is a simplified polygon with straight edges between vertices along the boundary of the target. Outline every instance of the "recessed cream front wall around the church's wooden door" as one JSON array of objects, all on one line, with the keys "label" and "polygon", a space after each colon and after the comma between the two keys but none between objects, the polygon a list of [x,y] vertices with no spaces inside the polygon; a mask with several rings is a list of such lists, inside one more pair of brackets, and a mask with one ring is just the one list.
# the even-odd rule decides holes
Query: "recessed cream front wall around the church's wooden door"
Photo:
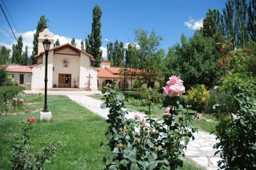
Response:
[{"label": "recessed cream front wall around the church's wooden door", "polygon": [[[52,85],[56,84],[57,87],[59,86],[59,74],[71,74],[71,87],[74,87],[74,79],[77,81],[76,85],[77,87],[79,87],[79,83],[78,83],[78,78],[79,78],[79,64],[80,64],[80,57],[77,55],[68,55],[68,53],[70,54],[74,54],[74,52],[72,52],[72,50],[69,49],[65,49],[65,50],[61,50],[58,53],[66,53],[66,55],[63,54],[55,54],[54,58],[53,58],[53,67],[54,67],[54,71],[53,71],[53,80],[52,80]],[[68,66],[64,67],[62,64],[62,60],[63,59],[68,59]]]}]

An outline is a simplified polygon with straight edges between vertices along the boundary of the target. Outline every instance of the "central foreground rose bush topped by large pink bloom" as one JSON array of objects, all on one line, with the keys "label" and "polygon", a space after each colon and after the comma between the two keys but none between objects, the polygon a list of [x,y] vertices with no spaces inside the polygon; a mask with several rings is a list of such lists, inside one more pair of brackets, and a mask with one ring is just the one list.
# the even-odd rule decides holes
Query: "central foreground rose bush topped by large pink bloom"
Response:
[{"label": "central foreground rose bush topped by large pink bloom", "polygon": [[[191,126],[195,115],[180,111],[179,96],[185,92],[182,80],[170,77],[164,87],[163,106],[166,108],[161,120],[152,117],[152,104],[157,101],[157,92],[147,89],[143,98],[148,106],[145,118],[125,118],[125,97],[105,87],[102,93],[109,108],[108,130],[106,131],[109,157],[104,158],[105,169],[175,169],[182,166],[180,155],[184,156],[189,139],[193,139],[195,128]],[[177,118],[179,115],[179,118]],[[184,141],[184,143],[182,143]]]}]

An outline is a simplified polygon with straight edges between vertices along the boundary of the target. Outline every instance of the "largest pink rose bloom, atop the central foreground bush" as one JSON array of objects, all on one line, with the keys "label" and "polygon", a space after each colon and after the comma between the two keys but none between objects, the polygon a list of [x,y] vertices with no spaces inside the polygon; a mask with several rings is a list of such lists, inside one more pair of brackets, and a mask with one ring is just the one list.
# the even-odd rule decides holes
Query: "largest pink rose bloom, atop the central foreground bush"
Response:
[{"label": "largest pink rose bloom, atop the central foreground bush", "polygon": [[170,80],[167,81],[166,87],[163,87],[163,94],[174,94],[175,96],[180,96],[186,92],[182,80],[180,80],[179,77],[171,76],[169,79]]}]

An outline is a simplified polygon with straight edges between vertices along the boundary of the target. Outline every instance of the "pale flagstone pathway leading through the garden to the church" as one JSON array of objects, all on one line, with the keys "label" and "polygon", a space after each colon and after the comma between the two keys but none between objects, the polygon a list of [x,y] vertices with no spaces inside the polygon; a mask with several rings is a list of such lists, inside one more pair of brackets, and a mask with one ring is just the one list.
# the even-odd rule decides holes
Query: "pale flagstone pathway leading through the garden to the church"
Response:
[{"label": "pale flagstone pathway leading through the garden to the church", "polygon": [[[76,96],[76,95],[67,95],[73,101],[76,101],[81,106],[87,108],[88,110],[92,111],[93,113],[99,115],[102,118],[108,118],[108,111],[109,109],[101,109],[100,104],[102,101],[97,99],[92,99],[88,96]],[[130,112],[127,115],[127,118],[134,118],[135,115],[139,115],[140,117],[144,117],[145,115],[140,112]],[[188,148],[186,150],[186,157],[189,157],[191,160],[195,161],[205,169],[209,170],[216,170],[218,169],[218,160],[220,159],[220,155],[214,156],[216,152],[213,149],[213,145],[217,142],[216,136],[213,134],[209,134],[204,131],[198,131],[198,133],[194,134],[195,140],[189,141]]]}]

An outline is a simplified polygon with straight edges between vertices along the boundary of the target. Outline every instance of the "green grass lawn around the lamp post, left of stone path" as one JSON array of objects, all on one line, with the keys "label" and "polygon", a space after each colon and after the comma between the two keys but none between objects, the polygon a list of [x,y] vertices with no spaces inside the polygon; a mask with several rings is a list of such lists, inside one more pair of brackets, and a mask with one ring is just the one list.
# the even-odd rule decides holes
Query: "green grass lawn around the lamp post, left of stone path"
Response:
[{"label": "green grass lawn around the lamp post, left of stone path", "polygon": [[[26,96],[24,101],[35,103],[35,109],[44,106],[44,101],[37,95]],[[48,108],[52,112],[53,121],[37,121],[31,133],[31,143],[60,143],[52,163],[47,163],[46,169],[102,169],[102,158],[108,155],[107,148],[100,148],[100,143],[106,141],[105,120],[66,96],[48,96]],[[28,117],[38,119],[39,113],[0,117],[0,169],[12,169],[12,146],[19,141],[21,122]],[[202,168],[185,159],[184,167],[180,169]]]}]

